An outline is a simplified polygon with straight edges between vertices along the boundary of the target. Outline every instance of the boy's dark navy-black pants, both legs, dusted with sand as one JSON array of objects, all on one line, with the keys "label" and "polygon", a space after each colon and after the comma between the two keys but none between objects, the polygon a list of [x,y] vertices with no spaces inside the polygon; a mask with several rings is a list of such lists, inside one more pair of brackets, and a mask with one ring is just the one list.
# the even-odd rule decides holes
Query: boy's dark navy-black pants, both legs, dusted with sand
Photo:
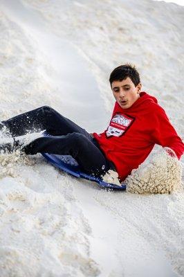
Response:
[{"label": "boy's dark navy-black pants, both legs, dusted with sand", "polygon": [[14,137],[44,129],[51,135],[26,145],[26,154],[71,155],[82,170],[93,175],[103,175],[107,170],[114,169],[113,163],[107,160],[91,134],[48,106],[19,114],[2,123]]}]

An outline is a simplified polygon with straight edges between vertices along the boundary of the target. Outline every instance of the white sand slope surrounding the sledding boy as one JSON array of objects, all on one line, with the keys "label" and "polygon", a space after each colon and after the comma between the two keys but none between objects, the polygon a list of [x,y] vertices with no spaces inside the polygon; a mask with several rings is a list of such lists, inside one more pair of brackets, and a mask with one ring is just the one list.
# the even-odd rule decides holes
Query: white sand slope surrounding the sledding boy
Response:
[{"label": "white sand slope surrounding the sledding boy", "polygon": [[[1,0],[0,8],[1,120],[50,105],[101,132],[114,103],[109,73],[133,62],[182,136],[183,7]],[[107,192],[39,155],[1,156],[0,168],[1,277],[184,275],[183,192]]]}]

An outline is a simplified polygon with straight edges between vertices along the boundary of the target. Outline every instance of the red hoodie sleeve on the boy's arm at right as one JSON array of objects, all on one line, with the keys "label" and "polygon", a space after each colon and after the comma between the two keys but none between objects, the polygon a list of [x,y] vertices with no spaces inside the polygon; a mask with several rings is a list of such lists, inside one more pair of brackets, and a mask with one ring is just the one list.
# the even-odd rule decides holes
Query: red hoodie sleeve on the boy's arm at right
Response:
[{"label": "red hoodie sleeve on the boy's arm at right", "polygon": [[172,124],[169,122],[169,118],[165,114],[164,109],[159,105],[156,105],[155,108],[156,109],[153,111],[153,142],[163,147],[171,148],[176,153],[178,159],[180,159],[184,151],[184,144]]}]

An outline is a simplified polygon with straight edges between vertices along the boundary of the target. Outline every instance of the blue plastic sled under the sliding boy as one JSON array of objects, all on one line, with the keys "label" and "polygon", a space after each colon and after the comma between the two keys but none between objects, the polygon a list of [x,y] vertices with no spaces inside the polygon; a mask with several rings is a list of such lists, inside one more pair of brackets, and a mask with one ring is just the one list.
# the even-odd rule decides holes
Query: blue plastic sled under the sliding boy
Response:
[{"label": "blue plastic sled under the sliding boy", "polygon": [[53,164],[53,166],[64,170],[65,172],[77,177],[84,178],[90,181],[95,181],[102,188],[113,188],[116,190],[126,190],[126,186],[122,184],[122,186],[117,186],[115,184],[109,184],[104,181],[100,177],[93,177],[88,175],[80,169],[80,166],[77,164],[77,161],[73,159],[71,156],[61,156],[55,154],[42,153],[42,155]]}]

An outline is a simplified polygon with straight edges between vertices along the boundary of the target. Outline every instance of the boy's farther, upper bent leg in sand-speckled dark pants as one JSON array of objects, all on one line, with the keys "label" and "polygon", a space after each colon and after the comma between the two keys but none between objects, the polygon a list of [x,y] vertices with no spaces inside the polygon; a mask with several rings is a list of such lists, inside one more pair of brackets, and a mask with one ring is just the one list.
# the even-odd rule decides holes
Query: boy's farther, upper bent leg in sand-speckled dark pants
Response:
[{"label": "boy's farther, upper bent leg in sand-speckled dark pants", "polygon": [[39,132],[46,129],[53,136],[78,132],[90,138],[90,134],[85,129],[48,106],[27,111],[24,114],[4,120],[2,123],[8,127],[12,136],[22,136],[28,132]]}]

